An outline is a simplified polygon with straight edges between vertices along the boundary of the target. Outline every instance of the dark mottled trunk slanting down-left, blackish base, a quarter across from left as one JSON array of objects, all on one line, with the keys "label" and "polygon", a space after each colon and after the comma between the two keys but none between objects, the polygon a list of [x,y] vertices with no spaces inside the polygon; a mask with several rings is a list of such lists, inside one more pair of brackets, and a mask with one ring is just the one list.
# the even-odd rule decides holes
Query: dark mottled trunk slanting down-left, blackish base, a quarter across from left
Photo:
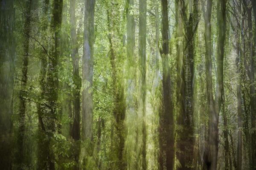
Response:
[{"label": "dark mottled trunk slanting down-left, blackish base, a quarter across from left", "polygon": [[[46,0],[45,13],[47,13],[47,8],[49,1]],[[49,49],[48,54],[48,64],[43,61],[43,67],[41,68],[41,87],[44,99],[46,100],[43,105],[47,105],[48,109],[44,109],[39,106],[39,123],[43,133],[41,135],[42,143],[39,143],[40,147],[43,147],[39,150],[39,163],[38,167],[47,168],[50,170],[55,169],[55,156],[51,148],[51,137],[55,132],[55,121],[58,116],[58,58],[60,55],[60,28],[61,28],[61,15],[62,15],[62,0],[54,0],[53,9],[52,9],[52,20],[50,24],[50,41],[53,44]],[[45,25],[47,26],[47,24]],[[43,26],[44,27],[44,26]],[[45,28],[46,30],[47,28]],[[45,58],[43,58],[44,60]],[[46,67],[48,65],[48,67]],[[46,74],[46,79],[44,80],[44,74]],[[44,124],[42,117],[47,121]],[[45,139],[46,138],[46,139]]]}]

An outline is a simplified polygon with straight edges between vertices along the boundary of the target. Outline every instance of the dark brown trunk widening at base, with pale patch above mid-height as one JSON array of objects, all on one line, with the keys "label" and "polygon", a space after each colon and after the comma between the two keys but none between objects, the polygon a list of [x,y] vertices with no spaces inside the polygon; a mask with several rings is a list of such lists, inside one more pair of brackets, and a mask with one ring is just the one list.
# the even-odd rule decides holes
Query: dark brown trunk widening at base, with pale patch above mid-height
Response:
[{"label": "dark brown trunk widening at base, with pale patch above mid-height", "polygon": [[[168,22],[168,2],[161,0],[162,4],[162,65],[163,65],[163,112],[160,113],[159,138],[160,151],[165,152],[166,162],[163,160],[163,153],[160,153],[160,169],[166,165],[167,170],[174,168],[174,117],[171,92],[171,73],[168,62],[169,55],[169,22]],[[164,144],[166,143],[166,145]]]}]

